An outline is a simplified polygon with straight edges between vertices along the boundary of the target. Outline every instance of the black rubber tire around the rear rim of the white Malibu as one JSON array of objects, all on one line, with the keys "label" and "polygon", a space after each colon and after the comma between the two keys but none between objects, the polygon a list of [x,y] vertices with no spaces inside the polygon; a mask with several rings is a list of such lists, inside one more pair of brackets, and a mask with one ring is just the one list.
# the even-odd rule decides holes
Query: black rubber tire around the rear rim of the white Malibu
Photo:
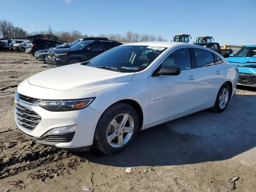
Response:
[{"label": "black rubber tire around the rear rim of the white Malibu", "polygon": [[[224,100],[223,100],[223,102],[225,101],[226,105],[220,107],[220,105],[221,105],[221,102],[220,102],[220,99],[221,99],[221,98],[220,98],[220,95],[223,94],[224,91],[225,91],[225,93],[226,93],[226,91],[228,91],[228,96],[226,96],[226,97],[224,98]],[[214,112],[216,112],[216,113],[222,113],[223,111],[225,111],[225,109],[227,108],[227,105],[228,105],[228,103],[229,103],[229,101],[230,101],[231,94],[232,94],[232,93],[231,93],[231,91],[230,91],[230,87],[228,86],[227,83],[224,83],[224,84],[221,86],[220,90],[218,91],[218,95],[217,95],[217,97],[216,97],[215,104],[214,104],[214,106],[211,108],[211,110],[214,111]],[[223,103],[223,102],[222,102],[222,103]]]}]

